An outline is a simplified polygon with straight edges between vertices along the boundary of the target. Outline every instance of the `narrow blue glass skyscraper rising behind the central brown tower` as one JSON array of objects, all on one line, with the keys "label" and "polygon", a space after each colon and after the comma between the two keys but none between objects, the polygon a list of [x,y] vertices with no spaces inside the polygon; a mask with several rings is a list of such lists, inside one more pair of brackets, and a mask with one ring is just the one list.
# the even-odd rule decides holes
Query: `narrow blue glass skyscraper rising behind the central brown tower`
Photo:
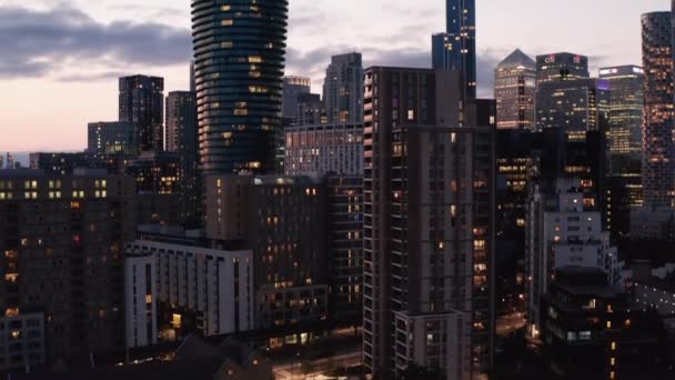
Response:
[{"label": "narrow blue glass skyscraper rising behind the central brown tower", "polygon": [[466,97],[476,98],[476,3],[475,0],[446,0],[444,33],[432,36],[432,67],[462,71]]}]

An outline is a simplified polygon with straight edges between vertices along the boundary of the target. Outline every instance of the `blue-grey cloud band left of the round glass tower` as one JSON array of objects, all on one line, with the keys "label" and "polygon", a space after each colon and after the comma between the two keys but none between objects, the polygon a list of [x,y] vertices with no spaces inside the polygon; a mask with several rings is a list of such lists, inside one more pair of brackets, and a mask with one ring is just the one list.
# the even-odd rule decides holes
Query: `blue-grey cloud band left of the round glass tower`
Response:
[{"label": "blue-grey cloud band left of the round glass tower", "polygon": [[[172,66],[191,56],[188,29],[130,21],[101,23],[57,7],[0,8],[0,78],[44,77],[74,66]],[[77,78],[72,76],[71,78]]]}]

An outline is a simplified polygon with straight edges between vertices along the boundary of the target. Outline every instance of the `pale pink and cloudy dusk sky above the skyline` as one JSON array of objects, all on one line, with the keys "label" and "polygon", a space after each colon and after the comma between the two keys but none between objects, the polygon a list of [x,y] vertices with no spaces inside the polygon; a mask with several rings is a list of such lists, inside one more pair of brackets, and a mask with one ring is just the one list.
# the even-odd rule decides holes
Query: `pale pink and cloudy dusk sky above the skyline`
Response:
[{"label": "pale pink and cloudy dusk sky above the skyline", "polygon": [[[286,74],[321,91],[330,56],[429,67],[444,0],[291,0]],[[476,0],[478,90],[515,48],[571,51],[603,66],[641,63],[639,17],[671,0]],[[563,6],[564,4],[564,6]],[[118,117],[124,74],[189,87],[190,0],[0,0],[0,151],[74,151],[87,123]]]}]

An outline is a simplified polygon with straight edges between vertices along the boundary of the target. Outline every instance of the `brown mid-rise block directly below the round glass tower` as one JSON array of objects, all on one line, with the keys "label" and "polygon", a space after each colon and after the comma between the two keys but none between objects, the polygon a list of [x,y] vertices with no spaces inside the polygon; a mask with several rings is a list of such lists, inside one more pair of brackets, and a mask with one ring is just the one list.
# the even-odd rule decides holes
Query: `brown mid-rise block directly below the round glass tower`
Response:
[{"label": "brown mid-rise block directly below the round glass tower", "polygon": [[212,246],[253,251],[255,326],[289,331],[325,321],[325,183],[309,177],[210,176],[205,186]]}]

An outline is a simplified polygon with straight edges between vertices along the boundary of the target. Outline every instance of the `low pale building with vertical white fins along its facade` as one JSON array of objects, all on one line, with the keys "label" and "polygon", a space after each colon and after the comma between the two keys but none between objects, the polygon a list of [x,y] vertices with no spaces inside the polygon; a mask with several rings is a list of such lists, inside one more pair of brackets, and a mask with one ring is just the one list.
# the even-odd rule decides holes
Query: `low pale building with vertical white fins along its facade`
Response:
[{"label": "low pale building with vertical white fins along its facade", "polygon": [[[212,337],[253,329],[255,292],[251,251],[182,244],[163,241],[161,236],[152,239],[128,244],[128,271],[139,264],[141,271],[137,269],[127,282],[128,291],[134,279],[135,287],[143,289],[138,297],[148,313],[151,307],[155,308],[154,336],[184,338],[194,332]],[[152,280],[151,286],[144,281],[148,279]],[[152,304],[147,300],[152,300]],[[128,319],[132,318],[131,311],[127,312]],[[158,331],[158,326],[164,328]],[[133,330],[144,337],[142,327],[134,324]]]}]

